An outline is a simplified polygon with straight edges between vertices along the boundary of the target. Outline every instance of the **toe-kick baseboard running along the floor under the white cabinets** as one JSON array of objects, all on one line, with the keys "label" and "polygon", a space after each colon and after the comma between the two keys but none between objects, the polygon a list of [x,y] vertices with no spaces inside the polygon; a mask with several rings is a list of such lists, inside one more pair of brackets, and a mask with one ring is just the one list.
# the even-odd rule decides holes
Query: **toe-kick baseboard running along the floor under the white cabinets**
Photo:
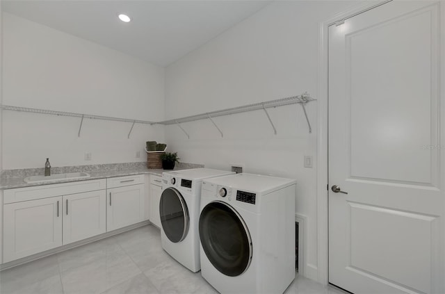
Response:
[{"label": "toe-kick baseboard running along the floor under the white cabinets", "polygon": [[136,229],[138,227],[143,227],[143,226],[145,226],[147,224],[150,224],[150,222],[148,220],[145,220],[143,222],[138,222],[137,224],[131,224],[128,227],[123,227],[121,229],[116,229],[114,231],[108,231],[108,232],[106,232],[104,234],[100,234],[100,235],[97,235],[97,236],[94,236],[94,237],[91,237],[91,238],[87,238],[87,239],[80,240],[80,241],[77,241],[77,242],[74,242],[74,243],[71,243],[71,244],[63,245],[63,246],[60,246],[60,247],[57,247],[57,248],[54,248],[54,249],[51,249],[51,250],[40,252],[38,254],[33,254],[31,256],[26,256],[26,257],[24,257],[22,259],[17,259],[15,261],[10,261],[8,263],[3,263],[3,264],[0,265],[0,271],[1,270],[7,270],[8,268],[13,268],[15,266],[19,266],[19,265],[24,264],[24,263],[29,263],[30,261],[35,261],[37,259],[42,259],[43,257],[49,256],[49,255],[52,255],[52,254],[56,254],[56,253],[59,253],[59,252],[63,252],[65,250],[70,250],[70,249],[72,249],[74,247],[79,247],[81,245],[86,245],[88,243],[92,243],[92,242],[95,242],[97,240],[108,238],[108,237],[111,237],[111,236],[123,233],[124,231],[131,231],[132,229]]}]

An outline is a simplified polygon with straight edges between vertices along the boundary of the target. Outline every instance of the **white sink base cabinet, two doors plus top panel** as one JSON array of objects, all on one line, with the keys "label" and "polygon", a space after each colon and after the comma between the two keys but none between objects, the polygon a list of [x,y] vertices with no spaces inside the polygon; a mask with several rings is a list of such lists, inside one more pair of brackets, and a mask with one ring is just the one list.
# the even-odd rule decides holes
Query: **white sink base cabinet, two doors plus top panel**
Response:
[{"label": "white sink base cabinet, two doors plus top panel", "polygon": [[99,179],[4,190],[3,263],[104,233],[105,185]]}]

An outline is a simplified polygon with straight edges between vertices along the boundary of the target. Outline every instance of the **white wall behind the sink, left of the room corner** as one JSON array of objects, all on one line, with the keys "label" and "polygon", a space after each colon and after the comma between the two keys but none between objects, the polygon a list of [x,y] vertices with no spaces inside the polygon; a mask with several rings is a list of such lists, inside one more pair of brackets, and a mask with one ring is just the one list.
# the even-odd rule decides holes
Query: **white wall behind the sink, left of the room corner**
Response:
[{"label": "white wall behind the sink, left of the room corner", "polygon": [[[3,104],[163,120],[164,69],[3,13]],[[3,170],[145,161],[163,126],[3,111]],[[140,158],[136,158],[140,151]],[[92,153],[92,161],[84,154]]]}]

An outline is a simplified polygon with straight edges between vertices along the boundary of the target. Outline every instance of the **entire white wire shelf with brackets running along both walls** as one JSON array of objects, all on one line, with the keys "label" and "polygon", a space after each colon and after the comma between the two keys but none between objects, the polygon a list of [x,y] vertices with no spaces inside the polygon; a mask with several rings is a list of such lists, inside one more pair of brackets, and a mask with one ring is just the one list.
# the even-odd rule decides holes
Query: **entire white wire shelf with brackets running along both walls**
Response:
[{"label": "entire white wire shelf with brackets running along both walls", "polygon": [[309,118],[307,117],[305,104],[307,104],[307,102],[309,102],[309,101],[314,101],[314,100],[316,100],[316,99],[309,97],[309,95],[307,93],[303,93],[300,96],[293,96],[293,97],[288,97],[288,98],[283,98],[283,99],[276,99],[276,100],[271,100],[271,101],[248,104],[248,105],[244,105],[244,106],[223,109],[221,111],[211,111],[209,113],[201,113],[198,115],[181,117],[181,118],[177,118],[175,120],[164,120],[162,122],[150,122],[147,120],[130,120],[127,118],[109,117],[109,116],[102,116],[102,115],[88,115],[88,114],[83,114],[83,113],[67,113],[67,112],[63,112],[63,111],[48,111],[48,110],[38,109],[38,108],[26,108],[26,107],[8,106],[8,105],[0,105],[0,109],[4,109],[7,111],[24,111],[24,112],[28,112],[28,113],[42,113],[42,114],[48,114],[48,115],[79,117],[79,118],[81,118],[81,122],[79,125],[79,133],[77,134],[77,136],[79,136],[79,137],[81,136],[83,119],[89,118],[92,120],[113,120],[113,121],[117,121],[117,122],[131,122],[131,129],[128,133],[128,138],[130,138],[131,131],[133,130],[133,126],[136,123],[151,124],[151,125],[153,125],[153,124],[163,124],[163,125],[177,124],[177,126],[179,126],[179,128],[181,128],[181,130],[184,131],[184,133],[188,136],[188,138],[190,138],[190,136],[188,135],[186,130],[184,130],[184,128],[181,126],[181,123],[193,122],[195,120],[210,120],[212,122],[212,124],[216,127],[216,129],[218,129],[218,131],[220,132],[221,137],[223,137],[223,131],[221,131],[221,129],[218,127],[218,125],[213,121],[212,117],[218,117],[218,116],[223,116],[223,115],[232,115],[235,113],[245,113],[248,111],[257,111],[257,110],[261,110],[261,109],[263,109],[264,113],[266,113],[267,118],[270,122],[270,125],[273,128],[274,133],[277,134],[277,129],[275,128],[275,125],[273,124],[273,121],[270,118],[267,108],[277,107],[277,106],[285,106],[285,105],[290,105],[290,104],[300,104],[302,106],[303,111],[305,113],[307,126],[309,127],[309,133],[312,133],[312,128],[311,128],[311,124],[309,122]]}]

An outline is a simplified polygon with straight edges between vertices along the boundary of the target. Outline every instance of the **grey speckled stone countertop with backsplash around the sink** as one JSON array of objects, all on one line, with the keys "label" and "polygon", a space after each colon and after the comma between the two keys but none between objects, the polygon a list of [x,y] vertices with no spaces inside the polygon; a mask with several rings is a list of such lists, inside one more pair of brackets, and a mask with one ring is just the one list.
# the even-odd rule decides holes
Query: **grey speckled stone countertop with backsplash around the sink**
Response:
[{"label": "grey speckled stone countertop with backsplash around the sink", "polygon": [[[72,181],[88,181],[92,179],[106,179],[112,177],[131,176],[134,174],[154,174],[161,176],[168,170],[149,169],[146,163],[113,163],[104,165],[79,165],[61,168],[51,168],[51,174],[65,172],[88,172],[90,177],[80,179],[63,179],[58,181],[42,181],[38,183],[26,183],[25,177],[43,174],[43,169],[3,170],[0,177],[0,190],[24,188],[32,186],[50,185],[54,183],[68,183]],[[202,168],[204,165],[193,163],[177,163],[175,170],[186,170],[189,168]]]}]

